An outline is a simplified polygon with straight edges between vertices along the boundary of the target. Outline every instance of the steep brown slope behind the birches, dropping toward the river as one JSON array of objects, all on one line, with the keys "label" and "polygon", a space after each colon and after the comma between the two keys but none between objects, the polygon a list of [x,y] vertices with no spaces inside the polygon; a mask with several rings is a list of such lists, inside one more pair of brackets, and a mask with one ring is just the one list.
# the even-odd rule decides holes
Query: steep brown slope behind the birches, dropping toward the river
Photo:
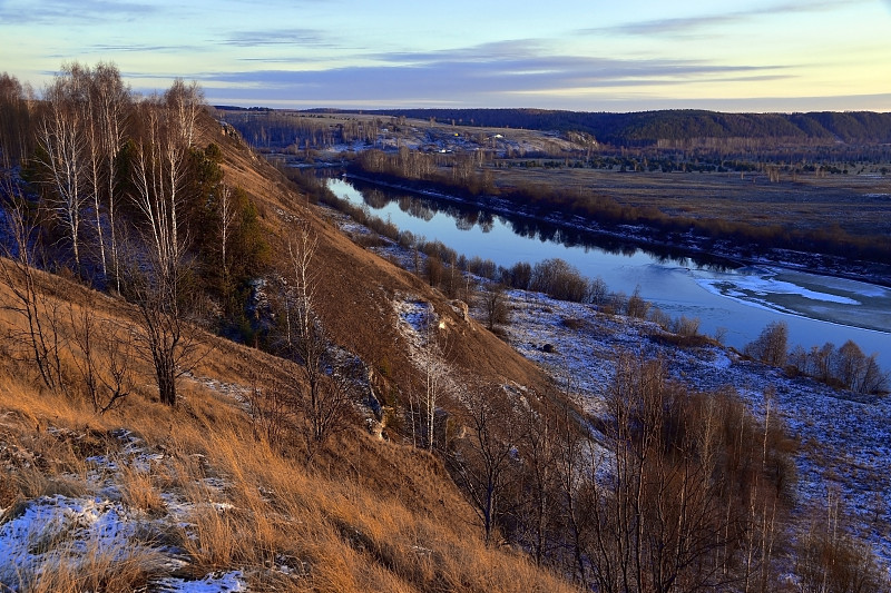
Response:
[{"label": "steep brown slope behind the birches, dropping toward the river", "polygon": [[[479,324],[464,319],[439,291],[415,276],[352,243],[327,221],[306,197],[288,187],[274,167],[248,151],[241,140],[206,131],[207,141],[226,146],[223,167],[226,182],[247,190],[263,214],[273,253],[287,253],[288,234],[302,224],[319,237],[317,261],[320,309],[335,342],[358,354],[365,363],[383,362],[393,374],[410,376],[413,366],[405,339],[398,332],[392,304],[420,299],[432,305],[449,333],[450,362],[483,380],[510,379],[530,387],[544,387],[540,372],[501,339]],[[273,264],[280,271],[285,258]],[[453,337],[451,337],[453,336]]]}]

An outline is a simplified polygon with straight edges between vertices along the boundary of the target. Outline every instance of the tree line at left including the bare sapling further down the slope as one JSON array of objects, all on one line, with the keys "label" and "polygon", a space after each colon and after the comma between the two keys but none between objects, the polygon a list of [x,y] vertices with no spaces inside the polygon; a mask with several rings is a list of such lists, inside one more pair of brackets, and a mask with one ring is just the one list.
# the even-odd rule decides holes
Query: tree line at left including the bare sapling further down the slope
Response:
[{"label": "tree line at left including the bare sapling further down the slope", "polygon": [[[144,97],[114,65],[70,63],[39,96],[8,75],[0,91],[2,307],[47,388],[104,414],[136,389],[141,359],[175,406],[207,329],[284,360],[284,378],[254,377],[258,437],[311,463],[354,424],[366,368],[317,313],[315,235],[292,220],[272,261],[260,208],[202,144],[226,129],[196,83]],[[75,305],[39,268],[124,299],[136,324]]]}]

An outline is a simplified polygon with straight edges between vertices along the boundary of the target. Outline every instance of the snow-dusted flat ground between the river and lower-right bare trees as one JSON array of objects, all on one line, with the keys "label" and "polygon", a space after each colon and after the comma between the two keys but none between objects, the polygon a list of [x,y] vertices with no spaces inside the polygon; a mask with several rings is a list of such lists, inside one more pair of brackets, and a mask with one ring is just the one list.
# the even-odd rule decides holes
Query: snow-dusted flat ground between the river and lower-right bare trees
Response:
[{"label": "snow-dusted flat ground between the river and lower-right bare trees", "polygon": [[[734,387],[755,414],[764,414],[764,391],[789,433],[800,443],[797,497],[802,510],[822,508],[838,492],[854,531],[891,565],[891,401],[836,392],[807,378],[743,359],[717,346],[677,348],[652,339],[648,322],[598,314],[590,305],[540,294],[510,291],[511,345],[577,394],[589,413],[601,409],[604,387],[617,353],[663,356],[673,375],[699,391]],[[546,352],[546,345],[549,345]]]}]

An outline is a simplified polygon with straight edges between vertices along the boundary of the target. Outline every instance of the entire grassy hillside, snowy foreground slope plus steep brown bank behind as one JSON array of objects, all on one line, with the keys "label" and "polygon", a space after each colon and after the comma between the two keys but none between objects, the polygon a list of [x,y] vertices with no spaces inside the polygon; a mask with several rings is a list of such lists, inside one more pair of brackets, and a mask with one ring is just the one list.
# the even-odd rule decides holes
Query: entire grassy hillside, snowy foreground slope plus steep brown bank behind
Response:
[{"label": "entire grassy hillside, snowy foreground slope plus steep brown bank behind", "polygon": [[[395,393],[388,377],[405,377],[402,389],[421,380],[395,302],[433,306],[454,336],[456,377],[544,384],[530,363],[460,318],[423,283],[319,218],[305,197],[237,139],[210,121],[202,134],[202,142],[219,142],[227,182],[247,188],[256,201],[274,251],[286,249],[282,241],[296,221],[317,235],[313,267],[320,273],[322,323],[339,347],[385,368],[375,386]],[[274,261],[273,269],[275,264],[283,263]],[[9,260],[3,267],[13,269]],[[3,590],[566,589],[521,555],[487,548],[441,461],[399,433],[389,442],[369,434],[364,418],[373,423],[375,415],[365,399],[354,402],[359,417],[311,467],[293,446],[274,446],[257,418],[258,394],[300,380],[300,373],[257,349],[198,333],[195,344],[204,356],[179,380],[175,407],[158,402],[148,360],[135,356],[131,393],[108,413],[94,413],[80,375],[87,357],[75,346],[81,312],[97,326],[133,332],[138,313],[120,299],[32,274],[41,312],[65,312],[52,317],[52,335],[68,340],[59,354],[67,387],[41,385],[22,347],[27,319],[4,310]],[[13,271],[0,287],[7,305],[17,303],[18,279]],[[90,358],[101,368],[112,356],[107,347]]]}]

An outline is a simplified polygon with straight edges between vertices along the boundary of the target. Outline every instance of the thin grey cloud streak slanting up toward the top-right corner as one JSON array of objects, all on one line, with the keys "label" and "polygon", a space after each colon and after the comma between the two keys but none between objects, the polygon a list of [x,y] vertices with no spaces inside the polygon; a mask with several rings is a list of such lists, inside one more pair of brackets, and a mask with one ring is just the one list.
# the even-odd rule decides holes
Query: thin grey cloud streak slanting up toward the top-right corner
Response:
[{"label": "thin grey cloud streak slanting up toward the top-right corner", "polygon": [[672,19],[655,19],[648,21],[629,22],[615,27],[582,29],[581,34],[627,34],[627,36],[672,36],[689,33],[721,24],[734,24],[741,21],[760,17],[784,16],[802,12],[822,12],[838,8],[850,8],[853,4],[865,3],[871,0],[796,0],[762,8],[737,10],[719,14],[703,14],[699,17],[681,17]]}]

